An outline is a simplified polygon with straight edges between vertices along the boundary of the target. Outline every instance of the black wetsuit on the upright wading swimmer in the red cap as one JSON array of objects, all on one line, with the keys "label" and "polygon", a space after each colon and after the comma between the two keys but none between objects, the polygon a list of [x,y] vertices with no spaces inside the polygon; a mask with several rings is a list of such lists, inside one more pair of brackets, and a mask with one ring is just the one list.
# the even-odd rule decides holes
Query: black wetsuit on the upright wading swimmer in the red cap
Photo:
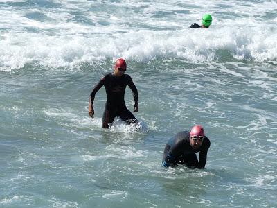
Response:
[{"label": "black wetsuit on the upright wading swimmer in the red cap", "polygon": [[132,78],[127,74],[123,74],[123,76],[120,77],[115,76],[113,73],[107,74],[91,90],[91,104],[94,101],[96,92],[98,92],[103,85],[106,89],[107,102],[103,114],[102,127],[109,128],[109,123],[112,123],[116,116],[120,116],[120,119],[128,123],[136,123],[136,118],[127,110],[124,101],[126,85],[132,90],[134,101],[138,101],[138,90]]}]

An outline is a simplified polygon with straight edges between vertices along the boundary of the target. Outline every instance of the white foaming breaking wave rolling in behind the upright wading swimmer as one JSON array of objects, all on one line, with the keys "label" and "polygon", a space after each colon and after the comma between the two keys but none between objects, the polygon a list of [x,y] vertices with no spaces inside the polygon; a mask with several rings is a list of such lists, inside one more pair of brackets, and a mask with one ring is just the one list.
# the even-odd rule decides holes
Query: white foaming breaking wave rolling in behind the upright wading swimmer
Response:
[{"label": "white foaming breaking wave rolling in behind the upright wading swimmer", "polygon": [[180,31],[131,31],[114,35],[49,36],[8,33],[0,39],[1,71],[37,63],[75,67],[124,57],[136,62],[177,58],[188,62],[230,59],[276,62],[277,33],[272,28],[209,28]]}]

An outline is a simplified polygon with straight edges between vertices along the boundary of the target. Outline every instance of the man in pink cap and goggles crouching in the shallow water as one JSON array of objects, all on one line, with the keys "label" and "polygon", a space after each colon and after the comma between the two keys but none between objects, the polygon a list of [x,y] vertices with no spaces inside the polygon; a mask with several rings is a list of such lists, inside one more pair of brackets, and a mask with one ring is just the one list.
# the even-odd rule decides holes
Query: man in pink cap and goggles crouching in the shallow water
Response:
[{"label": "man in pink cap and goggles crouching in the shallow water", "polygon": [[[210,145],[211,142],[204,135],[202,126],[195,125],[190,132],[179,132],[168,141],[163,152],[162,166],[185,164],[188,168],[204,168]],[[198,152],[199,160],[195,154]]]}]

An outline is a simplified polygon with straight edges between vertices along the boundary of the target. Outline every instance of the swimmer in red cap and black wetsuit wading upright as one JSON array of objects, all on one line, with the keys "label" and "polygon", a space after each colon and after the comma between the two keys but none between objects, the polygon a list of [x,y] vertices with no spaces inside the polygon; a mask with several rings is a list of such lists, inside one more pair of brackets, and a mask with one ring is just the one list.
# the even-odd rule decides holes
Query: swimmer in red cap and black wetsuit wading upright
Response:
[{"label": "swimmer in red cap and black wetsuit wading upright", "polygon": [[127,109],[124,101],[125,89],[128,85],[134,96],[134,112],[139,111],[138,90],[136,89],[132,78],[125,74],[126,69],[127,64],[125,60],[123,58],[119,58],[116,60],[116,64],[114,65],[114,73],[109,73],[101,78],[99,83],[91,90],[91,94],[89,96],[89,116],[93,118],[93,101],[96,92],[98,92],[103,85],[106,89],[107,102],[102,119],[102,128],[109,128],[116,116],[120,116],[120,119],[126,121],[127,123],[137,122],[134,115]]}]

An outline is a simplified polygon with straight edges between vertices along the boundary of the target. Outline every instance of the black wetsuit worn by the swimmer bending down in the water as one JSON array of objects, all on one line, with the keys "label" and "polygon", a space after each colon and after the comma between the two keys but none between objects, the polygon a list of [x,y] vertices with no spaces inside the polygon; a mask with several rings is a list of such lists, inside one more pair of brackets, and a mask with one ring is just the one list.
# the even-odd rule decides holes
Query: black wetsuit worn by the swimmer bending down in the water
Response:
[{"label": "black wetsuit worn by the swimmer bending down in the water", "polygon": [[[177,164],[186,164],[189,168],[204,168],[207,160],[208,148],[211,143],[208,137],[204,137],[202,145],[195,150],[190,145],[190,132],[179,132],[175,137],[172,137],[163,152],[162,165],[177,166]],[[195,153],[199,153],[199,161]]]}]

